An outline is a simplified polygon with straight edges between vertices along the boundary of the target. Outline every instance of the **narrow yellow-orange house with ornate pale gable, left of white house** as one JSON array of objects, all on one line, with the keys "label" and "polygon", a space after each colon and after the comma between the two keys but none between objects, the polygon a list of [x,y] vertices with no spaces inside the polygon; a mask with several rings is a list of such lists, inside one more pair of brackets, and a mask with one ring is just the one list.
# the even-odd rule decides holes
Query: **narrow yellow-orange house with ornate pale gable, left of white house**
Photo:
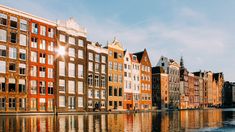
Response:
[{"label": "narrow yellow-orange house with ornate pale gable, left of white house", "polygon": [[108,110],[123,110],[124,49],[115,38],[108,44]]}]

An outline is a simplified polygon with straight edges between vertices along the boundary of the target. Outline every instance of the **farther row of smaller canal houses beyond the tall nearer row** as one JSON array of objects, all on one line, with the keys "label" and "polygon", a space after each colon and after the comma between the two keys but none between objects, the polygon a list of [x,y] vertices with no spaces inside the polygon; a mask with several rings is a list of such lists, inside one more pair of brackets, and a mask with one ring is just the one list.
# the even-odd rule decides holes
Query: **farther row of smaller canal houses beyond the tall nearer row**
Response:
[{"label": "farther row of smaller canal houses beyond the tall nearer row", "polygon": [[178,64],[162,56],[152,68],[153,107],[194,109],[222,106],[223,73],[189,72],[183,58]]}]

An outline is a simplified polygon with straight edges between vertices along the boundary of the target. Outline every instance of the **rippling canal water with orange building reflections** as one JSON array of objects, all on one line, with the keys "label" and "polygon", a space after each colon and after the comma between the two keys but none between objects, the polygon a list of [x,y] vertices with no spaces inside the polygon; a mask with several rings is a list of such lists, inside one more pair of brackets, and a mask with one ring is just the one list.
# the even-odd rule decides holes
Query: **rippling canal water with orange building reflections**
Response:
[{"label": "rippling canal water with orange building reflections", "polygon": [[185,110],[158,113],[0,116],[5,132],[235,132],[235,109]]}]

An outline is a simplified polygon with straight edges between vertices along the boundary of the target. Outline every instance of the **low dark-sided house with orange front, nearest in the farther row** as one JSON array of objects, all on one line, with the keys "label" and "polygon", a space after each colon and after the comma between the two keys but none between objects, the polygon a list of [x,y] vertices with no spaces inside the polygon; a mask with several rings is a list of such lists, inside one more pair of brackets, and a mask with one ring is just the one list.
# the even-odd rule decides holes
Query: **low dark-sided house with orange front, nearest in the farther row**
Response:
[{"label": "low dark-sided house with orange front, nearest in the farther row", "polygon": [[169,90],[168,74],[162,67],[152,68],[152,104],[153,108],[168,109]]}]

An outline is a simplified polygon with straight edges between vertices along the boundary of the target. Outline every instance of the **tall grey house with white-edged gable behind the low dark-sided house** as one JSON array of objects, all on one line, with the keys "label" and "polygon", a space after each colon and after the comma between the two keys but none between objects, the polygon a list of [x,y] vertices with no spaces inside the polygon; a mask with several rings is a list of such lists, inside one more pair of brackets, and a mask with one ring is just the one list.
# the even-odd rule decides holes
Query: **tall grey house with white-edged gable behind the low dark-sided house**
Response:
[{"label": "tall grey house with white-edged gable behind the low dark-sided house", "polygon": [[163,67],[169,78],[169,107],[179,108],[180,100],[180,65],[173,59],[161,57],[157,66]]}]

